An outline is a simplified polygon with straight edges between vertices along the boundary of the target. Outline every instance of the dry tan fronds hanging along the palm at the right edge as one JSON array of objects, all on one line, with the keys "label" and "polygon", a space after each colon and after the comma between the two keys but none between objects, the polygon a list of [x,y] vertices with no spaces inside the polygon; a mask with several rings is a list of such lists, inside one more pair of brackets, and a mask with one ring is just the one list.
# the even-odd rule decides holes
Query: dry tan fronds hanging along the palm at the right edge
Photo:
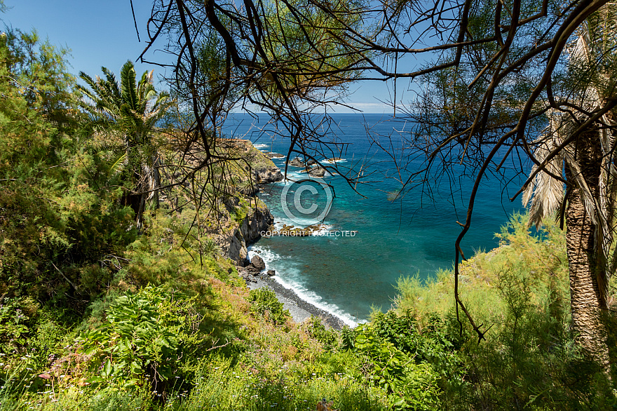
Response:
[{"label": "dry tan fronds hanging along the palm at the right edge", "polygon": [[[572,99],[580,107],[574,112],[549,112],[550,123],[543,134],[534,142],[534,156],[543,163],[548,154],[555,151],[581,123],[589,119],[590,113],[597,112],[616,97],[617,85],[611,68],[600,67],[597,55],[616,56],[617,50],[617,7],[607,5],[597,15],[592,16],[582,25],[578,35],[569,46],[569,69],[579,81],[578,90],[574,90]],[[602,116],[598,123],[579,135],[578,139],[589,140],[589,149],[597,150],[599,175],[597,182],[585,180],[583,166],[576,153],[575,142],[569,144],[558,156],[545,166],[545,171],[536,175],[532,184],[524,191],[523,203],[530,205],[529,222],[538,227],[543,218],[552,215],[564,201],[563,184],[550,177],[562,176],[567,168],[571,173],[569,183],[581,194],[585,212],[595,224],[595,266],[601,294],[606,295],[606,278],[617,269],[617,250],[613,250],[615,234],[614,213],[617,198],[617,170],[614,165],[617,127],[616,117],[612,112]],[[596,148],[597,147],[597,148]],[[532,172],[537,170],[534,166]],[[615,254],[611,257],[611,253]]]}]

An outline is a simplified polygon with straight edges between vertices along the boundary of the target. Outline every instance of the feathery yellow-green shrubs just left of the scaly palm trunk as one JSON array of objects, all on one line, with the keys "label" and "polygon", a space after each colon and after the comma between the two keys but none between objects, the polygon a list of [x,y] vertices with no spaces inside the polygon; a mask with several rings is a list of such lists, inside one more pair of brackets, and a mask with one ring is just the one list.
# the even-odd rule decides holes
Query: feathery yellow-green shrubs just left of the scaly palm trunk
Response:
[{"label": "feathery yellow-green shrubs just left of the scaly palm trunk", "polygon": [[[452,358],[449,349],[416,351],[416,358],[444,376],[439,381],[443,406],[452,410],[614,407],[611,384],[602,370],[583,358],[571,335],[564,233],[550,222],[533,233],[527,217],[514,215],[499,238],[499,248],[461,264],[461,298],[482,330],[489,329],[481,342],[462,313],[461,323],[457,321],[452,271],[442,271],[425,283],[418,278],[398,283],[396,311],[412,313],[423,334],[435,325],[428,334],[439,344],[429,346],[452,344],[456,353]],[[390,340],[400,344],[395,341],[406,339]],[[457,369],[459,378],[445,378],[444,370]]]}]

